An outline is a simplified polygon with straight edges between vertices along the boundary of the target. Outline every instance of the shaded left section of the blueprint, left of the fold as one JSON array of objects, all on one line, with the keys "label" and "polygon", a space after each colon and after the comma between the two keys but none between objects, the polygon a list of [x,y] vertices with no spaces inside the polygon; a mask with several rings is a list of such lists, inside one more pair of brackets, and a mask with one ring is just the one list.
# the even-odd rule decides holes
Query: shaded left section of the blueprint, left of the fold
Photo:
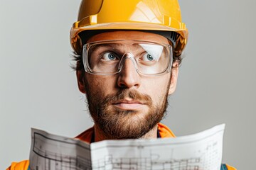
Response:
[{"label": "shaded left section of the blueprint, left of the fold", "polygon": [[90,145],[87,143],[43,130],[32,129],[31,135],[31,170],[91,169]]}]

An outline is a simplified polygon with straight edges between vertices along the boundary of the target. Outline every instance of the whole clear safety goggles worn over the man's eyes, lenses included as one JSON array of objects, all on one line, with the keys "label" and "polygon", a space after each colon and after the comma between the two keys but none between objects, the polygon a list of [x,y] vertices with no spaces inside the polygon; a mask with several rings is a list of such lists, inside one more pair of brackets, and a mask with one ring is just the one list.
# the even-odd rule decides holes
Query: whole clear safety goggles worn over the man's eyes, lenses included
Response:
[{"label": "whole clear safety goggles worn over the man's eyes, lenses included", "polygon": [[116,74],[129,58],[139,74],[157,75],[170,71],[172,48],[155,42],[109,40],[85,44],[82,58],[85,71],[92,74]]}]

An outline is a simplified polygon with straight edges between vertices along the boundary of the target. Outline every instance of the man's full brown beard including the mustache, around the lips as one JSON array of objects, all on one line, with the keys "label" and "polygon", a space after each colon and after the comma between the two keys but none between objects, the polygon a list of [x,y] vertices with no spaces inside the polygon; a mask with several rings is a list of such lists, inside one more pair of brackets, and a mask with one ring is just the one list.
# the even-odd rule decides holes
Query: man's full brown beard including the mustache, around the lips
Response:
[{"label": "man's full brown beard including the mustache, around the lips", "polygon": [[[138,139],[146,135],[164,117],[167,107],[168,92],[161,96],[163,102],[154,104],[151,97],[136,90],[120,89],[115,94],[103,96],[100,91],[87,91],[87,102],[90,115],[107,139]],[[121,110],[112,103],[132,98],[148,106],[147,113],[134,110]]]}]

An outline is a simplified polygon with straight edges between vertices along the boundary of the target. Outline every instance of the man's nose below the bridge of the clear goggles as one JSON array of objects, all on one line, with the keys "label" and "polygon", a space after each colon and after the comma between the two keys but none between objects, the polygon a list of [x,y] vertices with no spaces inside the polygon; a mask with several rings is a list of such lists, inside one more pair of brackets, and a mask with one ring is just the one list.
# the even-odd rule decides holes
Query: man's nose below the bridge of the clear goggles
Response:
[{"label": "man's nose below the bridge of the clear goggles", "polygon": [[121,72],[119,72],[117,85],[122,88],[139,88],[140,76],[131,57],[125,57]]}]

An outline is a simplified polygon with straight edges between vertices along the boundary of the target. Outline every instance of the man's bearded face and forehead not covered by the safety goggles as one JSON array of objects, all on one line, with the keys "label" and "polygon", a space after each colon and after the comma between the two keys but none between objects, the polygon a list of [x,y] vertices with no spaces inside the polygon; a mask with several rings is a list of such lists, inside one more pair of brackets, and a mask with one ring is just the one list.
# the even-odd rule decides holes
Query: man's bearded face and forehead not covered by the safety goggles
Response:
[{"label": "man's bearded face and forehead not covered by the safety goggles", "polygon": [[[161,35],[137,31],[114,31],[93,36],[88,42],[102,40],[146,40],[169,44]],[[132,52],[125,45],[122,51]],[[175,64],[175,63],[174,63]],[[132,60],[125,60],[122,71],[114,75],[82,74],[78,86],[87,96],[95,128],[108,139],[143,137],[163,118],[168,94],[174,92],[178,67],[156,77],[138,74]]]}]

